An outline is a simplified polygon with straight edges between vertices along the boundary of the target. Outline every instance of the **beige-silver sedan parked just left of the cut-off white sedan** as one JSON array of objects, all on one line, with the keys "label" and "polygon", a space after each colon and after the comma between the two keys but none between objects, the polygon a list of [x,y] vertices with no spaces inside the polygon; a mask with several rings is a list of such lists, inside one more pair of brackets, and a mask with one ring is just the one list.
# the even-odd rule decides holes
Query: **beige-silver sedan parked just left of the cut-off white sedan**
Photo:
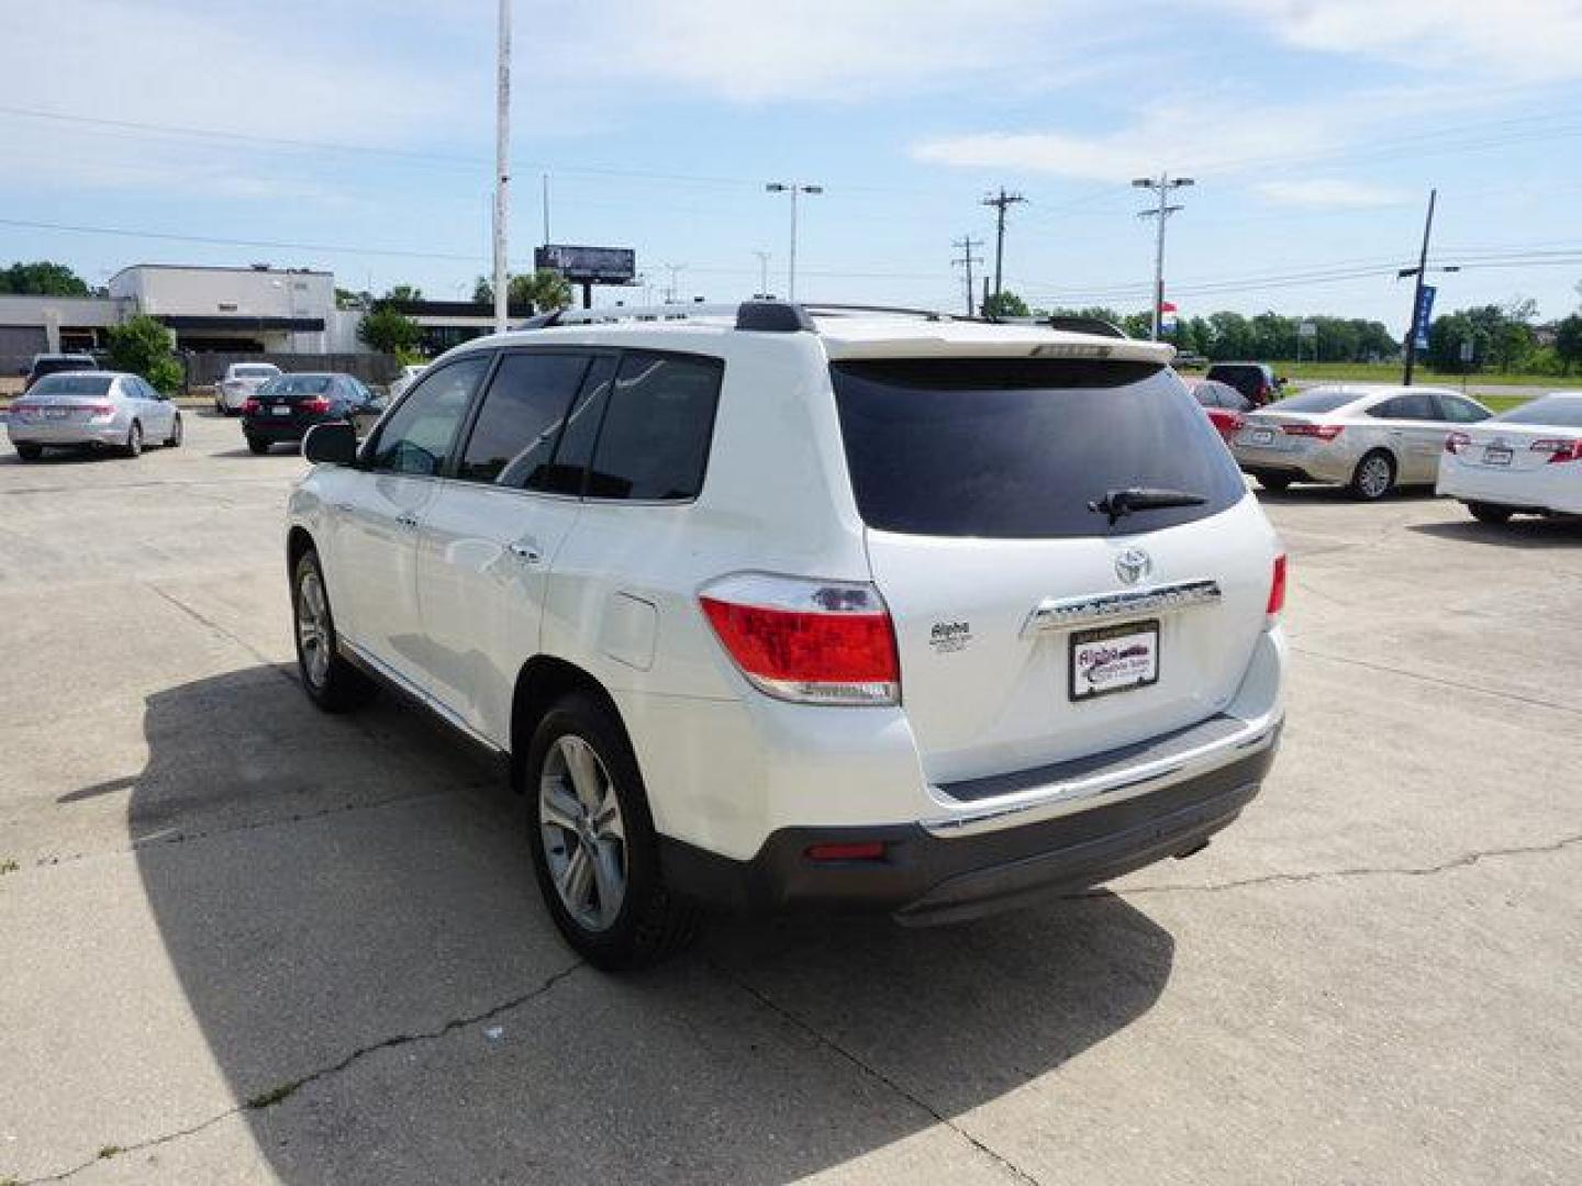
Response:
[{"label": "beige-silver sedan parked just left of the cut-off white sedan", "polygon": [[1432,484],[1446,438],[1492,414],[1443,387],[1310,387],[1248,413],[1231,452],[1269,490],[1334,482],[1372,501],[1397,485]]}]

